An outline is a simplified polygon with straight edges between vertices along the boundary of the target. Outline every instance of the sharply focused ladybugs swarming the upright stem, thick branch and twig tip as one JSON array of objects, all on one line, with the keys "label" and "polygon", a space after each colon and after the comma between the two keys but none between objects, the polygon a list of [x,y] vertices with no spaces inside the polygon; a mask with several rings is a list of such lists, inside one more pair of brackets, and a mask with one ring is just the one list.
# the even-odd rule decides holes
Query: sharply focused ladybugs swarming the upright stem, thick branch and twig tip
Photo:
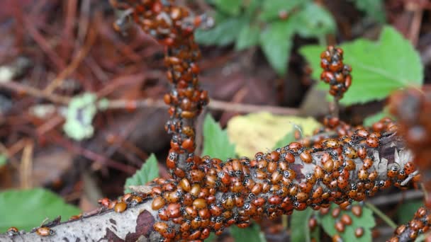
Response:
[{"label": "sharply focused ladybugs swarming the upright stem, thick branch and twig tip", "polygon": [[[252,159],[221,161],[194,155],[194,119],[208,103],[208,94],[198,88],[200,52],[193,37],[202,18],[173,2],[113,2],[130,11],[142,30],[166,47],[167,76],[172,83],[164,97],[171,115],[166,125],[172,134],[167,157],[171,179],[157,178],[150,184],[152,209],[158,214],[153,228],[162,236],[160,241],[202,241],[211,231],[221,234],[234,224],[245,228],[252,219],[275,219],[294,209],[317,210],[332,202],[346,208],[405,178],[403,167],[391,176],[377,172],[376,154],[380,146],[388,146],[386,137],[393,135],[386,121],[381,122],[381,129],[350,132],[332,120],[332,128],[340,127],[340,134],[345,129],[350,135],[325,137],[313,146],[292,142],[259,152]],[[333,93],[341,97],[351,82],[350,69],[342,64],[342,50],[330,47],[322,56],[325,75],[333,76],[330,83],[335,81]],[[117,212],[127,208],[123,203],[106,202]]]}]

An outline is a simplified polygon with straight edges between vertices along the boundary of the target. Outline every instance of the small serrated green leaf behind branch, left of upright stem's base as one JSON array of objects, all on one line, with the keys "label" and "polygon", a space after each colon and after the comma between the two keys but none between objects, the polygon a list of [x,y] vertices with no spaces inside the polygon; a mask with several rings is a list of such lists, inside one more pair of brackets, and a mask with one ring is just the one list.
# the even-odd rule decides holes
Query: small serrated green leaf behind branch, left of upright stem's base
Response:
[{"label": "small serrated green leaf behind branch, left of upright stem's base", "polygon": [[159,166],[157,166],[157,158],[154,154],[145,161],[139,171],[135,175],[125,180],[124,193],[131,192],[128,188],[130,185],[145,185],[148,182],[159,177]]}]

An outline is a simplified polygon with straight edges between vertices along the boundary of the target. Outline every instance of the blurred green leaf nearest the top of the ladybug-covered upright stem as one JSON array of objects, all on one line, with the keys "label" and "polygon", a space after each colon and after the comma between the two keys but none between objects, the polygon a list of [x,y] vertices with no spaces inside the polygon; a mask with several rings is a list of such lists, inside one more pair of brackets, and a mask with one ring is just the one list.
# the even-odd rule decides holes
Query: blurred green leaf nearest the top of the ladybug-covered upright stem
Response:
[{"label": "blurred green leaf nearest the top of the ladybug-covered upright stem", "polygon": [[247,18],[227,17],[218,13],[215,16],[215,26],[209,30],[197,29],[194,33],[196,42],[203,45],[225,46],[232,44],[238,37],[240,30],[248,25]]}]

